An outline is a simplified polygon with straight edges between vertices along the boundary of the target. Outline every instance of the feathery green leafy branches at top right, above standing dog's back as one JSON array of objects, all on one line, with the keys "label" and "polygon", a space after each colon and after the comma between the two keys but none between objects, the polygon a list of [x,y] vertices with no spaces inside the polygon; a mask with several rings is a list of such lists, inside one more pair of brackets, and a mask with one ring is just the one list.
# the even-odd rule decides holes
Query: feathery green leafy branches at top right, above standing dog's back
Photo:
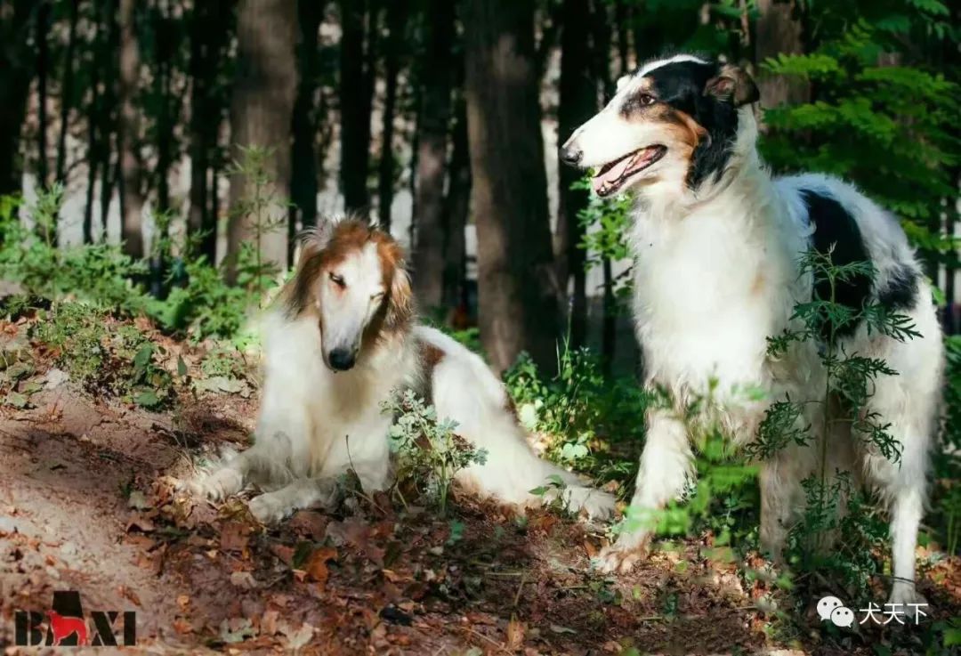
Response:
[{"label": "feathery green leafy branches at top right, above standing dog's back", "polygon": [[942,199],[955,195],[961,95],[956,76],[918,58],[919,48],[954,47],[947,7],[938,0],[805,4],[815,47],[763,68],[810,81],[814,102],[767,109],[765,159],[781,170],[852,180],[908,219],[909,237],[931,257],[956,257],[957,241],[938,233]]}]

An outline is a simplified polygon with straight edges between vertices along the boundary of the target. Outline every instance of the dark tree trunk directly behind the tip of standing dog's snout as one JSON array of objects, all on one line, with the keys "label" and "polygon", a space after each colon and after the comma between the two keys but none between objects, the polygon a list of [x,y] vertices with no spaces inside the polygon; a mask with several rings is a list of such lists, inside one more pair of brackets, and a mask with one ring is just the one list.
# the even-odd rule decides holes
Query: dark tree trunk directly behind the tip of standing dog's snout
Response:
[{"label": "dark tree trunk directly behind the tip of standing dog's snout", "polygon": [[[591,68],[591,52],[584,38],[583,26],[589,25],[590,9],[583,0],[564,0],[561,14],[560,102],[557,108],[557,142],[563,143],[598,109],[597,84]],[[557,232],[554,235],[554,258],[557,280],[567,291],[573,279],[573,295],[569,307],[570,341],[573,346],[584,343],[587,332],[587,290],[584,251],[580,247],[583,228],[578,214],[587,206],[588,190],[571,189],[580,177],[570,166],[559,166]]]}]

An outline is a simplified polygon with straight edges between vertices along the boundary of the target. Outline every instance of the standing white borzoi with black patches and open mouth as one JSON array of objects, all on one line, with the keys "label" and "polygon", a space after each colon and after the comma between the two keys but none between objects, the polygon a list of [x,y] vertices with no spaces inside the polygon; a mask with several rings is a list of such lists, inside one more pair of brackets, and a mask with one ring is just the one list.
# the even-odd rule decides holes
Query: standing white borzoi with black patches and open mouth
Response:
[{"label": "standing white borzoi with black patches and open mouth", "polygon": [[[770,400],[785,393],[813,401],[804,419],[815,430],[822,426],[818,346],[767,354],[769,336],[797,327],[796,303],[811,300],[812,290],[825,298],[802,273],[801,255],[833,249],[834,265],[874,266],[873,280],[839,283],[837,301],[854,311],[867,302],[907,315],[922,337],[897,341],[862,321],[847,326],[838,342],[848,354],[881,358],[898,371],[876,380],[868,410],[890,422],[900,462],[832,423],[830,435],[761,465],[760,535],[767,550],[780,553],[803,505],[801,480],[820,467],[820,443],[828,471],[863,475],[889,505],[891,601],[911,603],[918,598],[914,552],[943,369],[931,292],[897,219],[857,189],[825,175],[771,177],[756,149],[758,97],[748,74],[732,65],[690,55],[646,63],[618,82],[610,103],[575,131],[560,156],[596,169],[598,195],[629,189],[636,197],[633,312],[647,384],[681,400],[702,394],[709,380],[720,391],[761,385],[770,392],[769,401],[746,406],[728,399],[724,421],[736,441],[750,442]],[[653,510],[684,488],[691,450],[678,412],[652,410],[647,421],[632,505]],[[623,533],[604,550],[600,567],[627,570],[649,539],[646,528]]]}]

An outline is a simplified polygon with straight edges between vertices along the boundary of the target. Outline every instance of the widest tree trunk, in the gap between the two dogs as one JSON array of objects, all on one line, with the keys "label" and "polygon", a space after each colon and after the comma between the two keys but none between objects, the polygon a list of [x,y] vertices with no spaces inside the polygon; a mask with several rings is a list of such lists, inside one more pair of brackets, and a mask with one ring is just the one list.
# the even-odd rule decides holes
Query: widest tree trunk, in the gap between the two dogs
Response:
[{"label": "widest tree trunk, in the gap between the two dogs", "polygon": [[556,369],[557,285],[533,48],[533,4],[465,0],[480,338],[498,371],[522,350]]}]

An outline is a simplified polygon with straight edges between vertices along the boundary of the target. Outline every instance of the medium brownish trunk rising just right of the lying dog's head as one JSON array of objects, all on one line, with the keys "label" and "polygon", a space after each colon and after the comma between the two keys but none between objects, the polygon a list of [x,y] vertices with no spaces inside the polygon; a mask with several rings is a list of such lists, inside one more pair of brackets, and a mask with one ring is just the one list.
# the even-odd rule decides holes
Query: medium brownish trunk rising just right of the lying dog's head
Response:
[{"label": "medium brownish trunk rising just right of the lying dog's head", "polygon": [[[451,123],[454,65],[454,3],[433,0],[424,62],[421,64],[420,122],[417,139],[417,192],[414,207],[414,271],[417,299],[427,310],[441,308],[444,289],[444,179]],[[536,84],[536,83],[533,83]]]}]

